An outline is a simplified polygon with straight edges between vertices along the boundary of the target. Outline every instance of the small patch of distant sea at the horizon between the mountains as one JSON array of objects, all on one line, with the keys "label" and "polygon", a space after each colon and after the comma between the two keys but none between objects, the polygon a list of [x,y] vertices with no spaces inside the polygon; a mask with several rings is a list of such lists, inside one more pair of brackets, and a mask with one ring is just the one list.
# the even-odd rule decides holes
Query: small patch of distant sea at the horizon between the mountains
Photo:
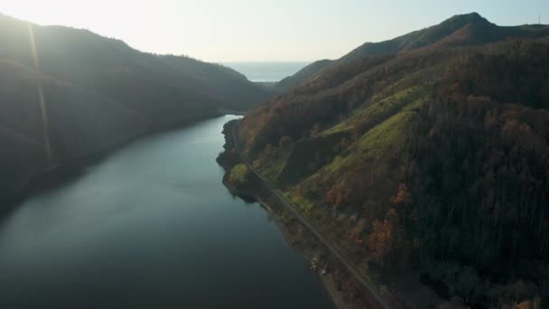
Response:
[{"label": "small patch of distant sea at the horizon between the mountains", "polygon": [[311,62],[225,62],[223,65],[244,74],[248,80],[268,82],[284,80]]}]

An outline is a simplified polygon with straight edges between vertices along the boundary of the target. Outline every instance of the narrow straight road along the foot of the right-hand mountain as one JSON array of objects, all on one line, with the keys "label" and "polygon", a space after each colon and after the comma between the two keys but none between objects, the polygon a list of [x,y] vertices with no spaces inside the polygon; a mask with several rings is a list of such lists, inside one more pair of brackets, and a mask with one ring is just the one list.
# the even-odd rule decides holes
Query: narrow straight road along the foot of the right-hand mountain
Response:
[{"label": "narrow straight road along the foot of the right-hand mountain", "polygon": [[349,270],[349,273],[352,274],[358,280],[358,282],[360,282],[360,284],[362,284],[362,286],[364,286],[368,290],[368,292],[375,298],[375,300],[377,301],[377,304],[379,304],[379,306],[381,308],[385,308],[385,309],[390,308],[390,306],[387,305],[386,302],[384,302],[383,299],[378,295],[378,293],[376,291],[376,288],[373,287],[373,284],[368,280],[368,278],[366,278],[365,276],[362,276],[358,272],[357,268],[354,267],[352,265],[352,263],[349,262],[349,260],[347,260],[345,257],[343,257],[340,254],[340,251],[337,250],[336,248],[334,248],[330,244],[330,241],[328,241],[328,239],[325,239],[321,235],[321,233],[314,227],[314,225],[311,223],[311,221],[308,218],[306,218],[305,216],[303,216],[302,212],[299,211],[295,207],[295,205],[293,205],[293,203],[291,201],[288,201],[288,199],[286,199],[284,194],[280,190],[276,189],[275,185],[273,183],[271,183],[268,179],[266,179],[261,173],[259,173],[256,170],[256,168],[254,167],[254,165],[251,164],[247,160],[246,156],[242,152],[242,149],[240,149],[240,144],[238,143],[237,134],[235,133],[234,124],[232,126],[230,126],[230,131],[231,131],[231,135],[232,135],[232,138],[233,138],[233,145],[235,145],[235,148],[237,149],[237,153],[240,156],[240,159],[242,160],[242,162],[244,164],[246,164],[247,168],[250,171],[252,171],[253,173],[255,173],[257,178],[259,178],[263,183],[265,183],[265,186],[271,192],[273,192],[273,194],[275,194],[275,196],[284,205],[284,207],[286,209],[288,209],[289,211],[292,211],[293,215],[295,215],[295,217],[298,220],[300,220],[304,226],[306,226],[308,229],[310,229],[312,231],[312,233],[318,239],[321,240],[321,242],[324,244],[324,246],[326,246],[326,248],[328,248],[330,250],[331,254],[333,254],[335,257],[337,257],[340,260],[341,264],[343,264],[347,268],[347,270]]}]

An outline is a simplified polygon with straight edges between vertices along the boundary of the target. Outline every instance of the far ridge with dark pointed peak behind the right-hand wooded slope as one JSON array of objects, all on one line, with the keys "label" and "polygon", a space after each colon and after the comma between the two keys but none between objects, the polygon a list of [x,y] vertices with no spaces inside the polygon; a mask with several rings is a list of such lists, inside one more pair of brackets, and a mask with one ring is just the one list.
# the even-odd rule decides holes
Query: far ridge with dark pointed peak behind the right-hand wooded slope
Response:
[{"label": "far ridge with dark pointed peak behind the right-hand wooded slope", "polygon": [[[331,70],[355,59],[374,55],[395,55],[426,47],[461,47],[498,42],[509,37],[539,38],[549,30],[539,25],[498,26],[477,13],[455,15],[431,27],[407,33],[384,42],[366,42],[336,61],[311,65],[306,74],[300,72],[280,82],[282,89],[293,89],[325,70]],[[315,64],[314,62],[313,64]]]}]

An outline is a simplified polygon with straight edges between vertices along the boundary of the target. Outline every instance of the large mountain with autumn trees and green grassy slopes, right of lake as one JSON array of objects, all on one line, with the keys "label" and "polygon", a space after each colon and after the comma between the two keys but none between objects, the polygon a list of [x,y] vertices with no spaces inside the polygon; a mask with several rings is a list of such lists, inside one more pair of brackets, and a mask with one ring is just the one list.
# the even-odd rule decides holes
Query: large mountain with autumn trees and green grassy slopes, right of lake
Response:
[{"label": "large mountain with autumn trees and green grassy slopes, right of lake", "polygon": [[548,36],[468,14],[365,44],[251,110],[237,140],[405,306],[427,307],[428,286],[453,305],[544,307]]}]

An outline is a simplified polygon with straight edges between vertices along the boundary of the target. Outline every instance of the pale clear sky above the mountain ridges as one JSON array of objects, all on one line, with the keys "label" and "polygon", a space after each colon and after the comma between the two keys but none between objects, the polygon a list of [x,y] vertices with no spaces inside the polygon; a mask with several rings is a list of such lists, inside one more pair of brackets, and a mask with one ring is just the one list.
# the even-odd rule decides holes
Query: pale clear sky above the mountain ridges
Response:
[{"label": "pale clear sky above the mountain ridges", "polygon": [[492,23],[549,23],[549,0],[5,0],[0,12],[86,28],[144,52],[203,61],[335,59],[478,12]]}]

